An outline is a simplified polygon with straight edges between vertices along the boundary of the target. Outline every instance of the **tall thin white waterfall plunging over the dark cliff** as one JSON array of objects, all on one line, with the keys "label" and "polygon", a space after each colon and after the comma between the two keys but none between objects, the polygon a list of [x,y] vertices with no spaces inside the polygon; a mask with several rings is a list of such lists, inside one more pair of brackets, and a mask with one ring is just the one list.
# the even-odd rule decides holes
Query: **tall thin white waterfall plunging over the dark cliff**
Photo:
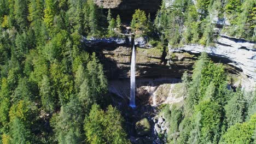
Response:
[{"label": "tall thin white waterfall plunging over the dark cliff", "polygon": [[131,58],[131,92],[130,92],[130,106],[132,108],[135,108],[135,71],[136,71],[136,50],[135,46],[133,44],[132,48],[132,58]]}]

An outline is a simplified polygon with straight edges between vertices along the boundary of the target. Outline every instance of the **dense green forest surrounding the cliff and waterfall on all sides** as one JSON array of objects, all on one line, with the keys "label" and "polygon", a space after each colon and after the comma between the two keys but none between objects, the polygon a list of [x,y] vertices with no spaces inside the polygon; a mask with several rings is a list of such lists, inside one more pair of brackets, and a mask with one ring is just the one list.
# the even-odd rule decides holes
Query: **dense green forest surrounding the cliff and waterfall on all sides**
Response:
[{"label": "dense green forest surrounding the cliff and waterfall on all sides", "polygon": [[[131,32],[160,48],[214,45],[218,16],[230,21],[222,33],[256,40],[254,0],[170,7],[163,2],[155,16],[134,11]],[[131,143],[103,65],[81,43],[124,37],[120,15],[92,0],[1,0],[0,24],[0,143]],[[227,79],[224,66],[202,53],[193,76],[182,77],[184,106],[163,109],[172,123],[168,143],[255,142],[256,93],[230,89]]]}]

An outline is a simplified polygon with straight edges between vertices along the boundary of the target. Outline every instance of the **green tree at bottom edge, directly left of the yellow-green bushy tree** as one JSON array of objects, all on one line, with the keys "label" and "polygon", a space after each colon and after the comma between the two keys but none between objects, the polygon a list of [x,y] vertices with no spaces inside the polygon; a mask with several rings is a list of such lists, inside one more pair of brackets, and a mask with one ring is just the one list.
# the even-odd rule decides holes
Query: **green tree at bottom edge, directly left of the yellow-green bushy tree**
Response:
[{"label": "green tree at bottom edge, directly left of the yellow-green bushy tree", "polygon": [[83,143],[84,109],[76,95],[51,119],[59,143]]}]

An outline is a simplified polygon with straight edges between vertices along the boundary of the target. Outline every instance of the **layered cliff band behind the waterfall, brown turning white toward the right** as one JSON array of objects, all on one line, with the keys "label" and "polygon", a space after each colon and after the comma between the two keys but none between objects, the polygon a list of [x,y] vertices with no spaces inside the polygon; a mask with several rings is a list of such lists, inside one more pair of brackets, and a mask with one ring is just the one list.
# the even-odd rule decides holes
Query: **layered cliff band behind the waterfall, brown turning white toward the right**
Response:
[{"label": "layered cliff band behind the waterfall, brown turning white toward the right", "polygon": [[[138,40],[135,41],[137,44],[137,77],[181,77],[185,70],[191,74],[200,52],[206,51],[214,62],[225,64],[226,71],[231,75],[241,77],[242,74],[242,83],[252,87],[255,85],[256,50],[253,42],[222,35],[216,42],[216,47],[200,45],[186,45],[179,49],[168,47],[168,53],[164,53],[156,47],[145,46],[144,41]],[[90,50],[98,53],[109,79],[130,77],[131,45],[129,39],[84,39],[84,43],[90,47]]]}]

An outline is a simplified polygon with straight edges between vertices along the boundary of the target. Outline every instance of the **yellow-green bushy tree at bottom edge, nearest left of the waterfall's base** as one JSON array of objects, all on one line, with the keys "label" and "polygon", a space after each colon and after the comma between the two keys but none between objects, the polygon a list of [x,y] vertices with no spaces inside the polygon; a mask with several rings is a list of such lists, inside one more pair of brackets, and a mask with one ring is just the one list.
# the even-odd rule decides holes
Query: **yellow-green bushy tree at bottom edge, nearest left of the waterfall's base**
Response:
[{"label": "yellow-green bushy tree at bottom edge, nearest left of the waterfall's base", "polygon": [[130,143],[122,127],[124,122],[120,112],[108,106],[106,112],[98,105],[92,105],[84,130],[88,143]]}]

